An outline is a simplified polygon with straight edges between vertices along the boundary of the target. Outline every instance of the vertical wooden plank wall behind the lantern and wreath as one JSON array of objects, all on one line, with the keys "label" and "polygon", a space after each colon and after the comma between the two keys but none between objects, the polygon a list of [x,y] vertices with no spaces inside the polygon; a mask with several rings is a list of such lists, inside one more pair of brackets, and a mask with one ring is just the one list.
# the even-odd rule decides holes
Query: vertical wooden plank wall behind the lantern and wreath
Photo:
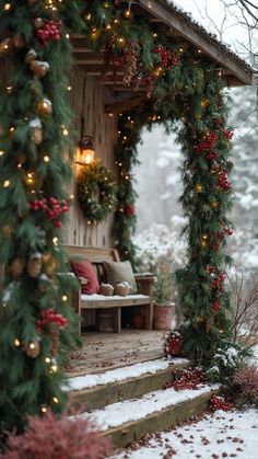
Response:
[{"label": "vertical wooden plank wall behind the lantern and wreath", "polygon": [[[97,158],[115,173],[114,147],[117,141],[117,119],[105,114],[105,104],[113,102],[112,92],[96,80],[80,73],[71,72],[71,105],[74,112],[74,127],[80,138],[81,116],[84,117],[84,134],[93,137]],[[77,167],[74,164],[74,174]],[[69,225],[66,230],[66,244],[94,248],[113,246],[110,215],[105,222],[89,227],[77,203],[75,181],[70,193],[74,202],[70,211]]]}]

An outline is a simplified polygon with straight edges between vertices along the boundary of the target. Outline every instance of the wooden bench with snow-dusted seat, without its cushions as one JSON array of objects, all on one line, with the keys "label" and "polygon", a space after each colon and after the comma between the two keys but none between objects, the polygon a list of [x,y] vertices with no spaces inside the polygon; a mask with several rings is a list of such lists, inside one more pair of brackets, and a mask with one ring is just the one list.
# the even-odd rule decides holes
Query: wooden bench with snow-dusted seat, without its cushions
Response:
[{"label": "wooden bench with snow-dusted seat, without its cushions", "polygon": [[[98,282],[107,282],[105,278],[104,262],[119,262],[119,254],[115,249],[93,249],[75,245],[64,245],[70,260],[87,260],[90,261],[97,273]],[[104,311],[112,310],[113,312],[113,329],[114,332],[121,332],[121,308],[139,307],[139,312],[144,314],[144,328],[152,330],[153,322],[153,303],[151,298],[151,290],[155,277],[136,274],[137,284],[140,292],[137,295],[128,295],[126,297],[105,297],[99,295],[83,295],[81,288],[74,296],[77,312],[82,315],[83,310],[102,309]]]}]

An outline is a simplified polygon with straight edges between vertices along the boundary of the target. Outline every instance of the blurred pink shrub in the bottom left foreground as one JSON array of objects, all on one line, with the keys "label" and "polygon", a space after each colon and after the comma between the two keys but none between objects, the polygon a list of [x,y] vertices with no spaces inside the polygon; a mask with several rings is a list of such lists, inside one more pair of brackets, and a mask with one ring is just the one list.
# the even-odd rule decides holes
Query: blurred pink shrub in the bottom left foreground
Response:
[{"label": "blurred pink shrub in the bottom left foreground", "polygon": [[24,434],[8,433],[0,459],[101,459],[109,451],[109,439],[102,438],[89,420],[69,420],[49,411],[30,417]]}]

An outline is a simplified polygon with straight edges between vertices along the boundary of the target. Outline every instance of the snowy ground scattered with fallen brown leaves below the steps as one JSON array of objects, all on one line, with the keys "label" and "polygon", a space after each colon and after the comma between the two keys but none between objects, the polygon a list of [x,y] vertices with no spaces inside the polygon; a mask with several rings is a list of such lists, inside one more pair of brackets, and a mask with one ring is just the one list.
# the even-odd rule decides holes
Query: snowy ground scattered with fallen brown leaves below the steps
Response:
[{"label": "snowy ground scattered with fallen brown leaves below the steps", "polygon": [[203,420],[171,432],[153,434],[149,446],[113,456],[112,459],[258,458],[258,410],[218,411]]}]

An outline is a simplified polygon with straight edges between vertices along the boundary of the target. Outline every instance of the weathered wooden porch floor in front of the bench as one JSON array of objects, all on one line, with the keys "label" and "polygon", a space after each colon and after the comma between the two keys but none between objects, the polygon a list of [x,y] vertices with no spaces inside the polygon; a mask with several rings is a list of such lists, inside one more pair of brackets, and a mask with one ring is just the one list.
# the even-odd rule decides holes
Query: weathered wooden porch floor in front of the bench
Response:
[{"label": "weathered wooden porch floor in front of the bench", "polygon": [[125,329],[120,334],[84,333],[83,347],[71,353],[66,372],[89,375],[161,358],[163,333],[137,329]]}]

